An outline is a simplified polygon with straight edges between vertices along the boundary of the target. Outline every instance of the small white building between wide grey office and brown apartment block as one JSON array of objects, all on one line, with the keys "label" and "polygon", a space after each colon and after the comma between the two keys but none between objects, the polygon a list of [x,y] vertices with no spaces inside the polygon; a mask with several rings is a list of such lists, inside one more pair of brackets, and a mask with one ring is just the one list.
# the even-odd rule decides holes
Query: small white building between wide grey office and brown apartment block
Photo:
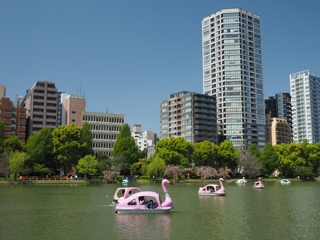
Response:
[{"label": "small white building between wide grey office and brown apartment block", "polygon": [[155,144],[156,134],[150,131],[141,131],[141,125],[134,124],[133,132],[131,132],[132,137],[137,146],[139,146],[142,151],[144,148],[148,148]]}]

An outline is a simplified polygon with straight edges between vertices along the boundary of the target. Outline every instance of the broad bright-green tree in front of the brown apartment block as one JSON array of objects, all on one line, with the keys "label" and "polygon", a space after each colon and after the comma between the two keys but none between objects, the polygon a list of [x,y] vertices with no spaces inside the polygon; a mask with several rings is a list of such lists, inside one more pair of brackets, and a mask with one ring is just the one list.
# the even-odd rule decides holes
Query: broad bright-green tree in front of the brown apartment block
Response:
[{"label": "broad bright-green tree in front of the brown apartment block", "polygon": [[155,155],[164,159],[166,165],[174,164],[186,167],[193,153],[193,146],[184,138],[170,137],[157,142]]}]

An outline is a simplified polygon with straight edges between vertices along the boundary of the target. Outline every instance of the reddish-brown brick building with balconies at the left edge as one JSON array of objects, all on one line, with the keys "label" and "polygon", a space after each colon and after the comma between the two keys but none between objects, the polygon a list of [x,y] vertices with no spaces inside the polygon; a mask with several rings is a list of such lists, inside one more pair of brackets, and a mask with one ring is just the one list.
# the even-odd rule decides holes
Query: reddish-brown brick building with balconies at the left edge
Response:
[{"label": "reddish-brown brick building with balconies at the left edge", "polygon": [[11,108],[9,98],[1,98],[0,120],[4,122],[4,136],[15,135],[21,142],[26,138],[26,108]]}]

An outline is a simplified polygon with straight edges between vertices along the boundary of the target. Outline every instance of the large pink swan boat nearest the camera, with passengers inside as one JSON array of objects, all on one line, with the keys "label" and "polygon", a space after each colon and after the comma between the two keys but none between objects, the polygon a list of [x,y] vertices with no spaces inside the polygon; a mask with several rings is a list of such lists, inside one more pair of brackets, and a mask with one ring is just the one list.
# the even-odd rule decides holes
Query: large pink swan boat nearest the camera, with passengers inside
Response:
[{"label": "large pink swan boat nearest the camera, with passengers inside", "polygon": [[[137,192],[126,199],[123,199],[116,205],[116,211],[118,213],[168,213],[173,208],[173,203],[166,184],[170,183],[168,180],[162,180],[162,187],[164,190],[165,201],[161,201],[160,194],[155,192]],[[140,201],[145,199],[143,204]],[[150,207],[149,202],[152,200],[153,206]]]}]

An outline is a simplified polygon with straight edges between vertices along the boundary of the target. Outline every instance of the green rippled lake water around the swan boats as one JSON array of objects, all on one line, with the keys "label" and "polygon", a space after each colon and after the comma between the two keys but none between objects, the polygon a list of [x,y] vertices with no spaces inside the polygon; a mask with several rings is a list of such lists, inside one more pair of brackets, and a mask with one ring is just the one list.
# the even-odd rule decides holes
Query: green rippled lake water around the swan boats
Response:
[{"label": "green rippled lake water around the swan boats", "polygon": [[[164,201],[161,184],[132,185]],[[227,196],[198,196],[205,185],[167,185],[169,214],[115,213],[122,184],[0,185],[0,239],[320,239],[320,182],[224,183]]]}]

